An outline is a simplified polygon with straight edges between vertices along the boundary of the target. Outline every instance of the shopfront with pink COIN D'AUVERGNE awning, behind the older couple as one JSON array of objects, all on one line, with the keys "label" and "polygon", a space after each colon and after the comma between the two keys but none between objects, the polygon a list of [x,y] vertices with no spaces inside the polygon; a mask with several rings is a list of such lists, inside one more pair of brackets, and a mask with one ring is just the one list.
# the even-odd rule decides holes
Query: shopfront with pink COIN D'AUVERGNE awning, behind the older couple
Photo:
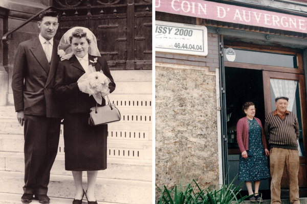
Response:
[{"label": "shopfront with pink COIN D'AUVERGNE awning, behind the older couple", "polygon": [[[156,0],[155,9],[156,202],[164,185],[195,180],[218,189],[236,179],[242,106],[252,101],[265,125],[281,95],[298,118],[306,197],[307,1]],[[271,199],[270,182],[260,183],[264,199]],[[287,170],[281,198],[289,200]]]}]

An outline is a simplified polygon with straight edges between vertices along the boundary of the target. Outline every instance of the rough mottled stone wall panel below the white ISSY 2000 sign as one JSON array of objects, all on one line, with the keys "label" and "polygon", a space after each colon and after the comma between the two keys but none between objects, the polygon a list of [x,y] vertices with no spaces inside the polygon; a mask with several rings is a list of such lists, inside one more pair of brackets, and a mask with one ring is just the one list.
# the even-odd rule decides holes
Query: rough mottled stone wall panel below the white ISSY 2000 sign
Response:
[{"label": "rough mottled stone wall panel below the white ISSY 2000 sign", "polygon": [[[218,187],[216,73],[156,63],[156,185]],[[156,198],[160,196],[156,188]]]}]

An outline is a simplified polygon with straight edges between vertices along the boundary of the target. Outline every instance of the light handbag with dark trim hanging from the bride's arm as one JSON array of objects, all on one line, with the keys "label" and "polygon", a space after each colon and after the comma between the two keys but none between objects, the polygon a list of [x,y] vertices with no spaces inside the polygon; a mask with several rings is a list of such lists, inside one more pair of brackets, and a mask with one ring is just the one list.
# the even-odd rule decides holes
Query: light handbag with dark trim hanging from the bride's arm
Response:
[{"label": "light handbag with dark trim hanging from the bride's arm", "polygon": [[121,119],[119,110],[115,107],[115,104],[111,104],[108,96],[107,105],[93,107],[90,109],[89,124],[92,126],[107,124],[110,122],[116,122]]}]

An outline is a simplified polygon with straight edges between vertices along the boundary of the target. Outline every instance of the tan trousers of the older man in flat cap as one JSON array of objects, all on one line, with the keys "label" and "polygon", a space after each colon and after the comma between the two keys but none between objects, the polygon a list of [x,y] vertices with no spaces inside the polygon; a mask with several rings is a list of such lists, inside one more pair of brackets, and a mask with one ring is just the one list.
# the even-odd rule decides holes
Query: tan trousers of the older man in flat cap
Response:
[{"label": "tan trousers of the older man in flat cap", "polygon": [[270,150],[270,170],[271,170],[271,204],[281,203],[280,182],[284,169],[287,167],[290,183],[290,203],[299,204],[298,195],[298,170],[299,155],[297,150],[273,147]]}]

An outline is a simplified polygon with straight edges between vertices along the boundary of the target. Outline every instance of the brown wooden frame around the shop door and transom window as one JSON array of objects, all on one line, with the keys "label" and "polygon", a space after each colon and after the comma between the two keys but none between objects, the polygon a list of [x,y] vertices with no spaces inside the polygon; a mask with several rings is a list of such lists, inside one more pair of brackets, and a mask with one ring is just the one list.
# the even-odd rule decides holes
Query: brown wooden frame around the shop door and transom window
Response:
[{"label": "brown wooden frame around the shop door and transom window", "polygon": [[[227,46],[227,42],[224,43],[224,46]],[[307,101],[306,101],[306,86],[305,86],[305,80],[304,80],[304,70],[303,70],[303,59],[302,59],[302,53],[300,50],[295,49],[283,49],[283,48],[276,48],[272,49],[272,47],[266,47],[266,46],[259,46],[259,45],[249,45],[245,43],[238,43],[238,45],[231,45],[229,47],[232,48],[240,48],[240,49],[246,49],[246,50],[256,50],[256,51],[262,51],[262,52],[272,52],[277,54],[290,54],[290,55],[296,55],[297,56],[297,65],[298,68],[287,68],[287,67],[277,67],[277,66],[268,66],[268,65],[258,65],[258,64],[248,64],[248,63],[237,63],[237,62],[229,62],[225,61],[224,65],[225,67],[235,67],[235,68],[245,68],[245,69],[258,69],[262,70],[263,74],[263,83],[264,83],[264,97],[265,98],[271,98],[271,89],[270,86],[265,86],[266,84],[270,84],[270,76],[273,78],[278,79],[288,79],[288,80],[297,80],[299,82],[299,93],[300,93],[300,106],[301,106],[301,117],[302,117],[302,127],[301,130],[303,131],[303,143],[304,143],[304,152],[305,157],[300,157],[300,164],[304,163],[306,164],[307,160],[307,131],[305,130],[307,127]],[[268,102],[270,102],[268,104]],[[265,100],[265,113],[272,112],[272,103],[271,99],[269,101]],[[299,175],[299,177],[302,177],[305,181],[306,178],[306,168],[307,165],[305,165],[305,168],[303,166],[300,166],[302,175]],[[286,190],[286,194],[287,193]],[[281,196],[284,195],[284,192],[281,192]],[[307,188],[302,187],[300,188],[300,195],[306,196],[307,195]]]}]

